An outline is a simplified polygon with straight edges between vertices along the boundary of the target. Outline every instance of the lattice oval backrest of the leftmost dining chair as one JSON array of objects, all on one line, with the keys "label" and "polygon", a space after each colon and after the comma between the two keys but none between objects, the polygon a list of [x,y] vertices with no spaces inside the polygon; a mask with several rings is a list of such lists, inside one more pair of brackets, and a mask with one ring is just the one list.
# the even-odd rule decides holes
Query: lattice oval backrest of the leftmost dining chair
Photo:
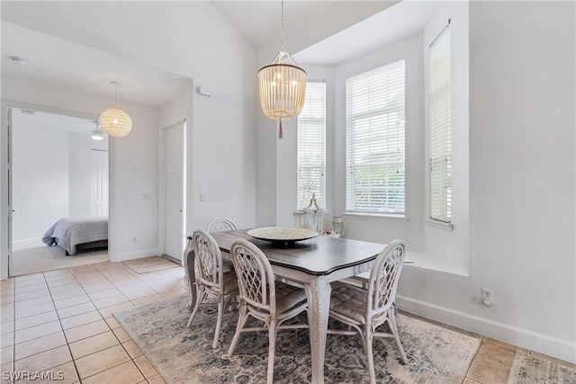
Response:
[{"label": "lattice oval backrest of the leftmost dining chair", "polygon": [[192,234],[196,281],[211,290],[224,290],[222,254],[214,237],[202,229]]}]

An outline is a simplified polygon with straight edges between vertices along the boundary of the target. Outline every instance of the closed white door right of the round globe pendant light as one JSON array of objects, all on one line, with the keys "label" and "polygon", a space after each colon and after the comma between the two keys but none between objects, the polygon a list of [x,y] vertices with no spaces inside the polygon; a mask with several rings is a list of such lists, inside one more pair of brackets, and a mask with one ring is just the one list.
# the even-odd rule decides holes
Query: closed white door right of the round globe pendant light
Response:
[{"label": "closed white door right of the round globe pendant light", "polygon": [[184,123],[163,129],[164,252],[182,261],[184,252]]}]

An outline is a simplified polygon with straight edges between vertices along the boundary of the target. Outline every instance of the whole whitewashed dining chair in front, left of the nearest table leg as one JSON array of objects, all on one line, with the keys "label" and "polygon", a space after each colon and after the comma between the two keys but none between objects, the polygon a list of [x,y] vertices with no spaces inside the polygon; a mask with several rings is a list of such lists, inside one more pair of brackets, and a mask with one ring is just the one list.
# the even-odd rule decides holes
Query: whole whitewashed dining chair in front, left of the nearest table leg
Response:
[{"label": "whole whitewashed dining chair in front, left of the nearest table leg", "polygon": [[[268,330],[267,383],[273,382],[276,333],[279,329],[308,328],[307,324],[282,326],[284,321],[308,310],[306,292],[281,281],[275,281],[272,266],[266,255],[254,244],[235,240],[230,246],[232,263],[238,275],[240,309],[236,334],[228,356],[234,353],[238,337],[243,332]],[[248,317],[264,322],[265,326],[247,327]]]}]

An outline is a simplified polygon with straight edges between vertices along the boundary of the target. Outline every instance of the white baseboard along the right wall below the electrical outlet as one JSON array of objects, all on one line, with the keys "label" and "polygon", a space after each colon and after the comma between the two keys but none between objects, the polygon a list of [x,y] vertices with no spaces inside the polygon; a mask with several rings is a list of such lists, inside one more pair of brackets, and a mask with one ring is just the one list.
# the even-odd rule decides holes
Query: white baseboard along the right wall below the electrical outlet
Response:
[{"label": "white baseboard along the right wall below the electrical outlet", "polygon": [[476,334],[490,336],[532,351],[545,353],[566,362],[576,362],[576,343],[440,307],[418,299],[410,299],[401,295],[397,295],[396,299],[398,304],[401,304],[401,309],[407,312],[457,326]]}]

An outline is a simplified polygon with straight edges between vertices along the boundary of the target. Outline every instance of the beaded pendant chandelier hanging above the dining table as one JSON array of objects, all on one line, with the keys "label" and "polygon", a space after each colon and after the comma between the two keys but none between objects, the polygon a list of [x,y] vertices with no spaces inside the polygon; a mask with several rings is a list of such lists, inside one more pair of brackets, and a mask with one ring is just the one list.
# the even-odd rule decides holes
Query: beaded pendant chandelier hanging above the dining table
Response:
[{"label": "beaded pendant chandelier hanging above the dining table", "polygon": [[306,71],[284,51],[284,0],[282,1],[282,49],[271,64],[258,71],[260,104],[266,117],[279,121],[278,138],[283,138],[282,121],[298,116],[306,94]]}]

